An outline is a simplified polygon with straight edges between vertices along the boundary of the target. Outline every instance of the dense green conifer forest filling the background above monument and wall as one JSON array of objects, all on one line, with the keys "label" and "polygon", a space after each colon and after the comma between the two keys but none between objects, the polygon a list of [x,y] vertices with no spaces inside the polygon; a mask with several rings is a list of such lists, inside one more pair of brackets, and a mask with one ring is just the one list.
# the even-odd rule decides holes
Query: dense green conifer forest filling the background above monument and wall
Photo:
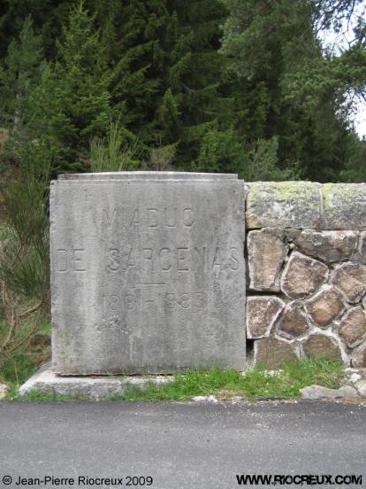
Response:
[{"label": "dense green conifer forest filling the background above monument and wall", "polygon": [[[365,95],[365,22],[340,54],[318,36],[359,3],[8,0],[0,164],[17,167],[20,146],[37,140],[53,175],[88,171],[92,149],[105,168],[359,181],[350,120]],[[122,166],[107,157],[111,121]]]}]

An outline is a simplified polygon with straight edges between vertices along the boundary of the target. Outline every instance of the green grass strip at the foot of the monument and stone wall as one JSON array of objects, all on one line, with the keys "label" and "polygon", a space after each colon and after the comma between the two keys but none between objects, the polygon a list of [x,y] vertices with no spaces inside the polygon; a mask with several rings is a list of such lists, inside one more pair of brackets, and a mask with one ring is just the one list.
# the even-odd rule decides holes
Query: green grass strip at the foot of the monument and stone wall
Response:
[{"label": "green grass strip at the foot of the monument and stone wall", "polygon": [[174,374],[173,381],[167,384],[151,382],[143,390],[131,385],[124,394],[113,396],[111,400],[185,401],[210,394],[218,400],[229,400],[233,396],[247,400],[296,399],[302,387],[318,384],[337,389],[344,379],[344,365],[326,360],[287,362],[277,371],[257,366],[245,375],[236,370],[188,370]]}]

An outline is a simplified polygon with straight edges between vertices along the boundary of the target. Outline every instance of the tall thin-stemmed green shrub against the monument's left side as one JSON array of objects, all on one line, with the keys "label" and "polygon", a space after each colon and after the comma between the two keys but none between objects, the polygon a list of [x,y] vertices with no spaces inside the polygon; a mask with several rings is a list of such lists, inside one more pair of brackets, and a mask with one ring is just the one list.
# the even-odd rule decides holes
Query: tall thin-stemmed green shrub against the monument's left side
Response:
[{"label": "tall thin-stemmed green shrub against the monument's left side", "polygon": [[3,190],[0,280],[17,297],[44,303],[49,295],[50,158],[37,143],[28,144],[19,158],[19,169]]}]

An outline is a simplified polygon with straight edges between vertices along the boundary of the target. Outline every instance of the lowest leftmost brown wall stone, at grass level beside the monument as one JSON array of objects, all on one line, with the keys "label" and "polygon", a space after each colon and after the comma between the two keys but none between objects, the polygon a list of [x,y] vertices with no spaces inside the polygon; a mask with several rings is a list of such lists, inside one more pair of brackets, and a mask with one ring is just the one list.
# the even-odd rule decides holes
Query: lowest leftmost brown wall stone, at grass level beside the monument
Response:
[{"label": "lowest leftmost brown wall stone, at grass level beside the monument", "polygon": [[281,369],[286,361],[298,361],[294,345],[278,338],[263,338],[255,341],[255,365],[269,369]]}]

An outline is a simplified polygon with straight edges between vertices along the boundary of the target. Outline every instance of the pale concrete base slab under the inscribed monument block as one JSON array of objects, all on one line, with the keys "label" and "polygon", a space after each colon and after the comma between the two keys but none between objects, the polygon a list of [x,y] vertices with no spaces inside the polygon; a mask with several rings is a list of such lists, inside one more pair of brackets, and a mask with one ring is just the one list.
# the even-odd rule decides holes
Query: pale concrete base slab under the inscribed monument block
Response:
[{"label": "pale concrete base slab under the inscribed monument block", "polygon": [[45,365],[21,385],[19,396],[26,396],[30,392],[42,392],[102,400],[123,394],[130,385],[143,389],[151,382],[166,384],[172,382],[172,379],[172,376],[57,376],[52,372],[50,365]]}]

